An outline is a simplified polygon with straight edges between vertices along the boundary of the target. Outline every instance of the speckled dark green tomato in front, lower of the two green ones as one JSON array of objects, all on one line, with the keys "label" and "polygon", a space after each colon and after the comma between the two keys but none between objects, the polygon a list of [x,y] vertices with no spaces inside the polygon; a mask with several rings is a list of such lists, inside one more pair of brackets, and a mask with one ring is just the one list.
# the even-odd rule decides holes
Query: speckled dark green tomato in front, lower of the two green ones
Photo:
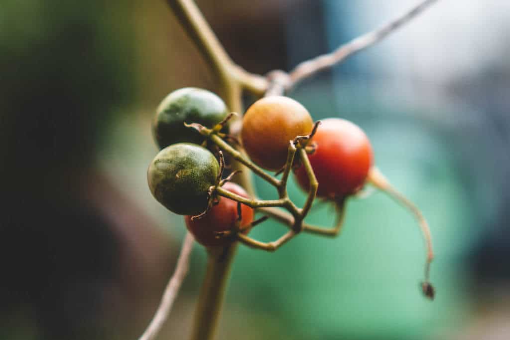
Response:
[{"label": "speckled dark green tomato in front, lower of the two green ones", "polygon": [[161,150],[147,170],[152,195],[168,210],[197,215],[206,210],[208,189],[216,184],[220,166],[207,149],[177,143]]}]

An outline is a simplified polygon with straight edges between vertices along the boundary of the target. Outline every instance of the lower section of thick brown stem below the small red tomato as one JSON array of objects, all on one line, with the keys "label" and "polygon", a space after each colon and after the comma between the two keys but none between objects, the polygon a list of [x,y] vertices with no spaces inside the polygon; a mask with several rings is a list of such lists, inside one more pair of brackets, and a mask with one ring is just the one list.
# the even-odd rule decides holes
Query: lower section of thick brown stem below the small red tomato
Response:
[{"label": "lower section of thick brown stem below the small red tomato", "polygon": [[200,290],[190,340],[214,338],[237,245],[234,242],[229,247],[209,249],[206,277]]}]

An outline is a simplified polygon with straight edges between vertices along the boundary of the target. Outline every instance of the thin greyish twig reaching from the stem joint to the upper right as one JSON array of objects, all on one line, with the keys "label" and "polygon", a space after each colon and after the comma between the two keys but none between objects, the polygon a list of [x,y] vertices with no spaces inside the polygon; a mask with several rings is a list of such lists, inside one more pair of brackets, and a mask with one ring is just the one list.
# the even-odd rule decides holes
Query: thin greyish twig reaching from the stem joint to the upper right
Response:
[{"label": "thin greyish twig reaching from the stem joint to the upper right", "polygon": [[421,1],[410,11],[395,18],[393,21],[388,22],[385,26],[382,26],[372,32],[368,32],[358,38],[354,38],[329,54],[324,54],[298,64],[292,71],[289,72],[289,81],[285,86],[286,90],[290,90],[301,80],[308,78],[323,69],[334,66],[354,53],[364,50],[365,48],[379,42],[390,33],[395,32],[398,28],[410,22],[414,17],[437,1],[438,0]]}]

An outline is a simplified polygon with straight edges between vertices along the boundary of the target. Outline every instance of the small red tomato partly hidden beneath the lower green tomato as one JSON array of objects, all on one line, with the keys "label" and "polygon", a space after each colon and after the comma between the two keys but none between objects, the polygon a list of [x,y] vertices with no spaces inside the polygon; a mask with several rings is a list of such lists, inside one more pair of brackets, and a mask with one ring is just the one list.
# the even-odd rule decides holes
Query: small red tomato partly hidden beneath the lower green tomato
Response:
[{"label": "small red tomato partly hidden beneath the lower green tomato", "polygon": [[[248,194],[239,185],[227,182],[223,188],[248,198]],[[216,238],[216,232],[232,230],[237,221],[237,202],[225,197],[213,206],[203,217],[191,221],[191,216],[185,216],[186,227],[193,234],[197,242],[206,247],[224,247],[232,242],[231,237]],[[253,209],[241,205],[241,232],[247,234],[253,221]]]}]

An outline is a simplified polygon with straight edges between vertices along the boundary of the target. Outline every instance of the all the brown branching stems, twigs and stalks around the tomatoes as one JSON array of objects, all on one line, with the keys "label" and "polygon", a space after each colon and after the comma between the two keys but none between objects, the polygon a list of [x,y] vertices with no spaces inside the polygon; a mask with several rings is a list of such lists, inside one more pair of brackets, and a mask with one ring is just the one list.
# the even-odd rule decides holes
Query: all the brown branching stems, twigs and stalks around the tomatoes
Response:
[{"label": "all the brown branching stems, twigs and stalks around the tomatoes", "polygon": [[[232,61],[193,0],[166,1],[190,38],[195,42],[201,55],[209,63],[214,74],[217,76],[219,80],[219,92],[227,106],[231,111],[243,112],[243,90],[249,91],[256,96],[263,96],[264,94],[283,94],[285,91],[288,91],[295,86],[299,81],[312,76],[322,69],[331,67],[346,59],[350,55],[382,40],[387,35],[409,22],[412,18],[416,17],[425,8],[435,3],[437,0],[422,0],[421,3],[415,6],[411,11],[391,21],[388,25],[351,40],[349,43],[337,48],[337,50],[331,54],[318,56],[312,60],[302,62],[297,65],[294,70],[289,72],[289,74],[281,70],[276,70],[269,72],[267,77],[251,74]],[[234,122],[237,123],[237,125],[231,125],[237,126],[237,129],[232,128],[231,133],[233,133],[233,135],[229,136],[234,140],[237,140],[237,134],[240,130],[239,119],[241,119],[241,117],[239,116],[237,119],[237,122]],[[283,169],[282,180],[277,180],[273,176],[267,174],[262,168],[248,160],[244,156],[242,150],[238,151],[232,148],[231,145],[226,143],[216,133],[210,133],[208,137],[216,143],[220,149],[234,158],[235,161],[232,164],[233,170],[242,171],[240,176],[237,176],[238,183],[246,189],[251,197],[255,197],[256,195],[253,190],[250,173],[246,171],[248,168],[251,169],[254,174],[273,185],[278,190],[279,199],[269,201],[246,199],[226,191],[221,187],[216,188],[217,194],[236,200],[250,207],[258,208],[266,215],[275,218],[290,228],[285,235],[269,243],[253,240],[244,234],[238,233],[237,238],[240,242],[249,247],[263,249],[266,251],[274,251],[301,231],[324,236],[335,236],[340,232],[345,212],[345,201],[336,203],[338,221],[335,227],[315,227],[303,222],[304,217],[308,214],[312,207],[312,203],[317,193],[317,180],[308,160],[305,149],[306,145],[297,145],[297,147],[295,147],[292,142],[290,143],[287,162]],[[294,203],[288,198],[287,194],[287,179],[292,169],[296,152],[298,153],[310,181],[310,191],[307,200],[301,209],[294,205]],[[426,221],[421,215],[421,212],[411,202],[406,200],[399,192],[389,186],[384,177],[379,175],[380,173],[378,173],[374,168],[369,176],[370,182],[409,208],[410,211],[412,211],[417,217],[424,232],[428,255],[425,266],[425,282],[423,283],[423,291],[427,296],[433,297],[433,287],[428,283],[428,268],[432,261],[433,253],[430,233],[428,231]],[[289,212],[285,212],[284,210],[275,207],[285,208]],[[175,299],[175,296],[179,291],[179,287],[186,275],[192,244],[193,238],[188,234],[179,257],[176,271],[165,290],[161,305],[140,340],[154,339],[165,322],[173,300]],[[236,248],[237,242],[234,242],[231,246],[221,249],[208,249],[209,263],[207,275],[203,282],[198,301],[193,334],[191,337],[192,340],[211,340],[214,337]]]}]

